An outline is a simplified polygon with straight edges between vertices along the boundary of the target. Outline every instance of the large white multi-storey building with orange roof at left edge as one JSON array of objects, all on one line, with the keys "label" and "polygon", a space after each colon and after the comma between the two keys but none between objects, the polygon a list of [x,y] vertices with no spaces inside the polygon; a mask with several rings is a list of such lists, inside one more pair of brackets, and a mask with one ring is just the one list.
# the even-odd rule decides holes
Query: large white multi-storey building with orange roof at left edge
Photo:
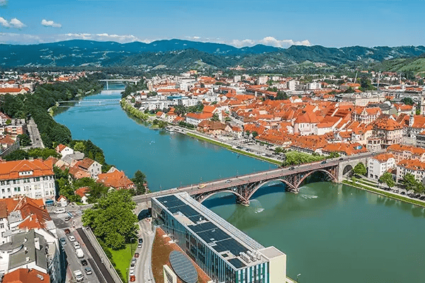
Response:
[{"label": "large white multi-storey building with orange roof at left edge", "polygon": [[54,199],[54,177],[51,160],[0,161],[0,198]]}]

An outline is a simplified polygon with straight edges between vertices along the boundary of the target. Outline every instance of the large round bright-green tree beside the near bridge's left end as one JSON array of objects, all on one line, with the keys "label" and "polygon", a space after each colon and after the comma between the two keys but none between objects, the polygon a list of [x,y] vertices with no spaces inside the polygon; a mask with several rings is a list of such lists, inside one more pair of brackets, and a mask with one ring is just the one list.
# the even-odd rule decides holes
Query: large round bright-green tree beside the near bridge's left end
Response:
[{"label": "large round bright-green tree beside the near bridge's left end", "polygon": [[113,190],[86,209],[82,221],[106,246],[118,250],[137,237],[137,216],[132,212],[135,207],[128,190]]}]

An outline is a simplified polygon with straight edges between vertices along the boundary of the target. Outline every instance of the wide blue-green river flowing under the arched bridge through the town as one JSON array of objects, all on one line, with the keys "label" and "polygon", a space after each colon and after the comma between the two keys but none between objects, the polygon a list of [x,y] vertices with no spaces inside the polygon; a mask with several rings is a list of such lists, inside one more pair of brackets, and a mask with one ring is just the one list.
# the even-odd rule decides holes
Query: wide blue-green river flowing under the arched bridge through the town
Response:
[{"label": "wide blue-green river flowing under the arched bridge through the town", "polygon": [[[98,94],[85,99],[110,99]],[[152,190],[273,168],[203,141],[152,130],[119,105],[72,107],[55,116],[74,139],[91,139],[106,161],[132,176],[146,173]],[[310,183],[294,195],[282,185],[257,191],[249,207],[232,195],[204,204],[263,246],[288,257],[299,282],[423,282],[425,213],[346,185]]]}]

